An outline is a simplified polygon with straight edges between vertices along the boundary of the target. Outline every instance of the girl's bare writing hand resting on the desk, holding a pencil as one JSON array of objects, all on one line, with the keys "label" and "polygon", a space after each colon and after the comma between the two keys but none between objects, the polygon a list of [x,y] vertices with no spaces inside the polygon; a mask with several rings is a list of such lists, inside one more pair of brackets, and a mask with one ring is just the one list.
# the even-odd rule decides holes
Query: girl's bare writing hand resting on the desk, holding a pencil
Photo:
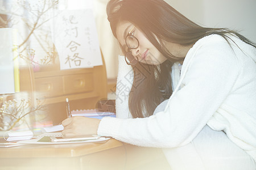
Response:
[{"label": "girl's bare writing hand resting on the desk, holding a pencil", "polygon": [[97,118],[82,116],[67,118],[62,122],[64,130],[61,133],[64,136],[97,134],[100,121]]}]

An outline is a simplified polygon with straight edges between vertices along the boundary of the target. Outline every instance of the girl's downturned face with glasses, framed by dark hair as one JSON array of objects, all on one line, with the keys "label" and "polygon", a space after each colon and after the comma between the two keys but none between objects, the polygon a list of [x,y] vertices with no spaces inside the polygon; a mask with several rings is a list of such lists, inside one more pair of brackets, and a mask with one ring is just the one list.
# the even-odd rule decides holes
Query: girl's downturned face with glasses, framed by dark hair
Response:
[{"label": "girl's downturned face with glasses, framed by dark hair", "polygon": [[[117,25],[117,40],[122,45],[122,48],[125,52],[128,52],[128,46],[133,47],[133,43],[129,44],[130,36],[127,37],[128,34],[133,35],[139,41],[138,48],[136,49],[129,49],[133,56],[136,58],[138,57],[139,62],[151,64],[151,65],[159,65],[166,61],[166,58],[163,56],[162,53],[159,52],[158,49],[155,48],[154,45],[143,35],[143,33],[133,24],[129,22],[122,22]],[[126,39],[127,37],[127,39]],[[136,40],[135,40],[136,41]],[[126,45],[127,43],[127,45]],[[135,42],[136,44],[136,42]],[[137,45],[136,45],[137,46]],[[137,59],[137,58],[136,58]]]}]

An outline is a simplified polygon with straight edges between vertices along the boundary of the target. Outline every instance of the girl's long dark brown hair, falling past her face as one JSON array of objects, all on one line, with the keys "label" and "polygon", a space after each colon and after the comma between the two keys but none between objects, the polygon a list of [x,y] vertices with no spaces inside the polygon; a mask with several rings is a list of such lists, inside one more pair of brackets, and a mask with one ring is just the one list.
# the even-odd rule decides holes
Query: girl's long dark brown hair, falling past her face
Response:
[{"label": "girl's long dark brown hair, falling past her face", "polygon": [[133,66],[134,81],[129,95],[129,109],[134,118],[152,115],[154,109],[172,94],[171,67],[174,62],[183,61],[185,56],[180,58],[171,54],[163,45],[163,41],[184,46],[192,45],[212,34],[221,35],[228,41],[227,34],[231,33],[256,48],[254,42],[236,31],[228,28],[201,27],[163,0],[110,0],[107,14],[115,38],[118,23],[133,23],[167,58],[160,66],[143,63]]}]

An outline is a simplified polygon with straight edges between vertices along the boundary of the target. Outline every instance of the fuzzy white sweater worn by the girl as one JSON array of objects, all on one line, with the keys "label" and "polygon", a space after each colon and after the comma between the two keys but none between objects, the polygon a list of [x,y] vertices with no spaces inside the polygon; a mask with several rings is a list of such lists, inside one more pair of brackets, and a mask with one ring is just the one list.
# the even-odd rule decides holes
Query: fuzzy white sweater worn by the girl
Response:
[{"label": "fuzzy white sweater worn by the girl", "polygon": [[230,48],[218,35],[193,45],[163,112],[125,118],[129,111],[117,109],[122,118],[102,118],[98,134],[138,146],[170,148],[191,142],[207,124],[224,130],[256,160],[256,49],[232,39],[242,51],[231,40]]}]

